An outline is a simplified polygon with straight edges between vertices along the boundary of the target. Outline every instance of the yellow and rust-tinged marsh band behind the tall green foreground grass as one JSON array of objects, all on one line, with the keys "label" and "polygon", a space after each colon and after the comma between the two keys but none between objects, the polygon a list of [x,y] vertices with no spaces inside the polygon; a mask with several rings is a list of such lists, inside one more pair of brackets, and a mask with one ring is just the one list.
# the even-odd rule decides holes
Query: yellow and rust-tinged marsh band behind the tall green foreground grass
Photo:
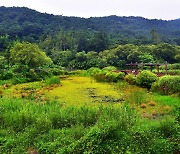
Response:
[{"label": "yellow and rust-tinged marsh band behind the tall green foreground grass", "polygon": [[[4,90],[4,95],[38,100],[46,103],[56,99],[64,107],[99,105],[121,106],[124,103],[136,108],[144,117],[156,117],[168,114],[180,99],[171,96],[155,95],[146,89],[128,85],[96,82],[90,77],[70,76],[61,78],[59,85],[47,86],[44,82],[32,82],[14,85]],[[151,104],[150,104],[151,103]],[[152,105],[154,104],[154,105]]]}]

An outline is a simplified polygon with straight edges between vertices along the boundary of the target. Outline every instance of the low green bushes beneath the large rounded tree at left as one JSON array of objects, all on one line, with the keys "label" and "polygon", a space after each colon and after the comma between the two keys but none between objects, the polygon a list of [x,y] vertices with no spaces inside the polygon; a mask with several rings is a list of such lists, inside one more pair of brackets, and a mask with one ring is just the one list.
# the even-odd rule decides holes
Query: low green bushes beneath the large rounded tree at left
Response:
[{"label": "low green bushes beneath the large rounded tree at left", "polygon": [[63,70],[62,67],[52,65],[44,66],[36,69],[29,69],[24,65],[13,65],[11,68],[0,70],[0,80],[1,82],[7,82],[11,84],[41,81],[46,78],[57,75],[67,75],[67,71]]}]

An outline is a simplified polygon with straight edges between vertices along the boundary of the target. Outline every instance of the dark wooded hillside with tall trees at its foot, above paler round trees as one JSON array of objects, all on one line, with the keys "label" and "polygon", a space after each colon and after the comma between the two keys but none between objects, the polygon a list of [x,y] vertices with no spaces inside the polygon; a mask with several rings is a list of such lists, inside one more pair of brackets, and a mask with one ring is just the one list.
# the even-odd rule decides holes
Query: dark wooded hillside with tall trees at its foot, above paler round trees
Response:
[{"label": "dark wooded hillside with tall trees at its foot, above paler round trees", "polygon": [[[39,13],[28,8],[0,7],[0,35],[42,42],[63,33],[61,48],[102,51],[117,44],[180,45],[180,20],[149,20],[142,17],[65,17]],[[102,42],[97,42],[103,39]],[[75,41],[74,41],[75,40]],[[58,40],[59,41],[59,40]],[[104,43],[105,46],[99,45]]]}]

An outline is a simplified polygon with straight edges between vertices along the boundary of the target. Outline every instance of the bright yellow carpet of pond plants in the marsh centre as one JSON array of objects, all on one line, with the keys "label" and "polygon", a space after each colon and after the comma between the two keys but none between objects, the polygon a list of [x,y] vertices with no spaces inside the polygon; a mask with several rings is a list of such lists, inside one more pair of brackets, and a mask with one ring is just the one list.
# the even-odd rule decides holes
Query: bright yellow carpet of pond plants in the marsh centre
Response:
[{"label": "bright yellow carpet of pond plants in the marsh centre", "polygon": [[[69,77],[61,80],[61,86],[47,91],[49,97],[57,97],[66,105],[95,105],[97,103],[121,103],[122,93],[115,85],[98,83],[89,77]],[[99,105],[99,104],[98,104]]]}]

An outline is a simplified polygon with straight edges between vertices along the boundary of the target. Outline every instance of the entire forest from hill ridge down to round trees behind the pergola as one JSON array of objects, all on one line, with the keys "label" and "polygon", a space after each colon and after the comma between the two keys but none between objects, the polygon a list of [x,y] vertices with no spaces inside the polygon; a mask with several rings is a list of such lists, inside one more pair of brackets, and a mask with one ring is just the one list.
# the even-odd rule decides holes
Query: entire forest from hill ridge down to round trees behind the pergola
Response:
[{"label": "entire forest from hill ridge down to round trees behind the pergola", "polygon": [[177,63],[180,20],[141,17],[78,18],[0,7],[0,52],[8,64],[10,49],[21,41],[36,43],[54,64],[88,69],[130,62]]}]

